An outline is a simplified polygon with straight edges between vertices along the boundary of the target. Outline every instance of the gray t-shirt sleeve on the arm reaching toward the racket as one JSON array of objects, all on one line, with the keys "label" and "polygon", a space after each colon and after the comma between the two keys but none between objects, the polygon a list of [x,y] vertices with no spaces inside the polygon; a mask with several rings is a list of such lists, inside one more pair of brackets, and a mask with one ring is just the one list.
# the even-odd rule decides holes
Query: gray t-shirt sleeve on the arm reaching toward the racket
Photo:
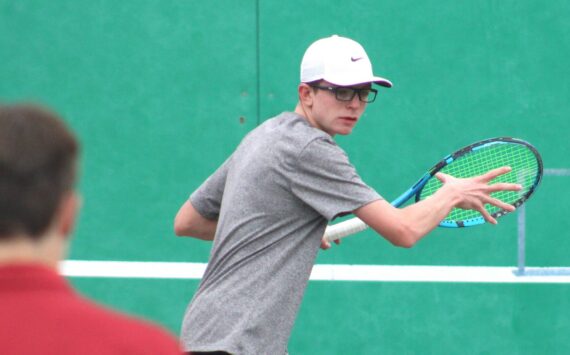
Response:
[{"label": "gray t-shirt sleeve on the arm reaching toward the racket", "polygon": [[291,188],[329,221],[382,199],[362,181],[344,150],[324,138],[311,141],[299,154]]}]

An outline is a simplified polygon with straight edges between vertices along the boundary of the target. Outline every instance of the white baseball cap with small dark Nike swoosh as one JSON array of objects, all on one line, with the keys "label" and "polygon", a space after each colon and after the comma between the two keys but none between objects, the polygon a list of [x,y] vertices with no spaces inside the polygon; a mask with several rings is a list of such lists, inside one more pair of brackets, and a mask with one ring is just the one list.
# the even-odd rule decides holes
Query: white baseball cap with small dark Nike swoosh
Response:
[{"label": "white baseball cap with small dark Nike swoosh", "polygon": [[314,42],[301,61],[301,82],[326,80],[339,86],[376,83],[390,88],[392,82],[372,74],[364,48],[349,38],[333,35]]}]

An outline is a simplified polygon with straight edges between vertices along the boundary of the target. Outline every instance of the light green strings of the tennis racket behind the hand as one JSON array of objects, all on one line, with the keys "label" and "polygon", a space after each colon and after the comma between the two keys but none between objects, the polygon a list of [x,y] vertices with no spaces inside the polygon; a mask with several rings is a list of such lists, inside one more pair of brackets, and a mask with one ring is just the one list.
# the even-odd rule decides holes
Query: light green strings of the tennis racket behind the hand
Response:
[{"label": "light green strings of the tennis racket behind the hand", "polygon": [[[494,142],[458,157],[445,166],[441,172],[455,177],[468,178],[502,166],[510,166],[512,170],[495,178],[491,183],[517,183],[523,188],[520,191],[498,191],[492,193],[491,196],[514,205],[532,189],[539,170],[535,154],[525,145]],[[430,179],[424,186],[420,199],[423,200],[433,195],[441,186],[442,183],[438,179]],[[502,211],[493,205],[486,205],[485,208],[491,214]],[[480,216],[481,214],[474,210],[454,208],[446,220],[465,221]]]}]

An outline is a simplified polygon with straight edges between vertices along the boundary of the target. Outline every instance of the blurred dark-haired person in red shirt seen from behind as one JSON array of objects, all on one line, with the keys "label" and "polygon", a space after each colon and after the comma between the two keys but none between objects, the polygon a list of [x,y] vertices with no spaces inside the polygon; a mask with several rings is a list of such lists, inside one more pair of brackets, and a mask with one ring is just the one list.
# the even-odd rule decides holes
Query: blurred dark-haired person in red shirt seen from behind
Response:
[{"label": "blurred dark-haired person in red shirt seen from behind", "polygon": [[162,328],[88,301],[59,275],[78,150],[54,114],[0,105],[0,353],[181,354]]}]

